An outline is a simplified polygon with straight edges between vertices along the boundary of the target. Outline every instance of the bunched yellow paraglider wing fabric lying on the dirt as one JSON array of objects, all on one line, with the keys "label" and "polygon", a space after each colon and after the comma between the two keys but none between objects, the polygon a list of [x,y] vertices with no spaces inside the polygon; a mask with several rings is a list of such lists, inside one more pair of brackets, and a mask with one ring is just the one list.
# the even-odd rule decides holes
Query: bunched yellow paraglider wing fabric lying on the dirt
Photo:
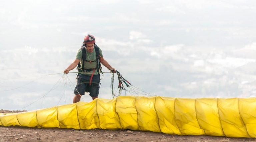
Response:
[{"label": "bunched yellow paraglider wing fabric lying on the dirt", "polygon": [[2,126],[130,129],[176,135],[256,138],[256,98],[119,96],[0,114]]}]

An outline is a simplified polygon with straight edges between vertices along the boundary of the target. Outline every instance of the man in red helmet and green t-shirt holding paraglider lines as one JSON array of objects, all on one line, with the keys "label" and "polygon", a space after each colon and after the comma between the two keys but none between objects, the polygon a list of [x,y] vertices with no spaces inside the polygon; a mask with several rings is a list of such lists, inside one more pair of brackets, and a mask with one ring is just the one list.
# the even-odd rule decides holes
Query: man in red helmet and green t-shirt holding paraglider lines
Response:
[{"label": "man in red helmet and green t-shirt holding paraglider lines", "polygon": [[[83,58],[86,60],[83,60]],[[112,72],[116,72],[103,58],[101,49],[95,44],[95,37],[87,35],[84,38],[82,48],[77,52],[75,61],[64,70],[64,73],[68,73],[80,63],[81,66],[78,66],[78,71],[83,72],[83,74],[79,73],[77,77],[73,103],[79,102],[85,92],[90,93],[89,95],[92,97],[92,100],[98,98],[100,88],[100,63],[98,61]]]}]

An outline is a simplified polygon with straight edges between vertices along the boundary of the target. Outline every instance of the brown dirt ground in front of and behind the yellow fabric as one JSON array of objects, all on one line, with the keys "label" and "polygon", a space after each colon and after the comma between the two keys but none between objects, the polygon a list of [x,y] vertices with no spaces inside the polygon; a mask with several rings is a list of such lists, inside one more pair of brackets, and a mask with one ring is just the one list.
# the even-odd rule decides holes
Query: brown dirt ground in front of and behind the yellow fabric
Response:
[{"label": "brown dirt ground in front of and behind the yellow fabric", "polygon": [[[24,110],[25,111],[25,110]],[[0,110],[0,113],[21,111]],[[255,138],[227,138],[217,136],[178,136],[131,130],[75,130],[61,128],[29,128],[0,126],[0,142],[256,142]]]}]

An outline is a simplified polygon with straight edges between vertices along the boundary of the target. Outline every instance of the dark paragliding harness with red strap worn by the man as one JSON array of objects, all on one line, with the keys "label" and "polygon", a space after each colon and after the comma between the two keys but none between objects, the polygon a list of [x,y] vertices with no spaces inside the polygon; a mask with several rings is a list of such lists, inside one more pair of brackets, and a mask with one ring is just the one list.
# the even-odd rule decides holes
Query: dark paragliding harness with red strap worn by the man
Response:
[{"label": "dark paragliding harness with red strap worn by the man", "polygon": [[[81,47],[83,63],[82,63],[82,65],[80,65],[80,63],[78,63],[78,65],[77,65],[77,70],[78,70],[78,72],[89,72],[89,71],[93,71],[93,72],[92,72],[92,75],[91,75],[91,79],[90,79],[90,85],[91,85],[91,83],[92,83],[92,77],[93,77],[93,75],[94,75],[95,69],[96,69],[96,71],[99,73],[99,75],[100,75],[100,72],[101,72],[101,74],[103,74],[102,71],[101,71],[101,64],[100,64],[100,50],[99,50],[99,47],[98,47],[96,44],[94,44],[94,49],[95,49],[95,52],[96,52],[96,61],[88,61],[88,60],[86,60],[86,49],[85,49],[85,48],[86,48],[86,47],[85,47],[85,44],[83,44],[82,47]],[[91,62],[96,62],[96,63],[97,63],[97,64],[96,64],[96,68],[84,69],[84,62],[89,62],[89,63],[91,63]],[[78,73],[78,74],[81,74],[81,73]],[[78,78],[78,74],[77,74],[77,78]]]}]

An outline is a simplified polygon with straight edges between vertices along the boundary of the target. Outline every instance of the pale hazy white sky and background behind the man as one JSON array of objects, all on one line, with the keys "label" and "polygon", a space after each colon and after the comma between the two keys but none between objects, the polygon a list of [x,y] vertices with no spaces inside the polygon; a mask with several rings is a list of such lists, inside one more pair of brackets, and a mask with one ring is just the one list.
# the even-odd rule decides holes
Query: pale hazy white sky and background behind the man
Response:
[{"label": "pale hazy white sky and background behind the man", "polygon": [[[255,97],[255,15],[254,0],[1,1],[0,109],[41,97],[24,109],[72,103],[76,74],[55,73],[74,61],[86,34],[148,93]],[[102,76],[101,98],[112,98],[111,75]]]}]

